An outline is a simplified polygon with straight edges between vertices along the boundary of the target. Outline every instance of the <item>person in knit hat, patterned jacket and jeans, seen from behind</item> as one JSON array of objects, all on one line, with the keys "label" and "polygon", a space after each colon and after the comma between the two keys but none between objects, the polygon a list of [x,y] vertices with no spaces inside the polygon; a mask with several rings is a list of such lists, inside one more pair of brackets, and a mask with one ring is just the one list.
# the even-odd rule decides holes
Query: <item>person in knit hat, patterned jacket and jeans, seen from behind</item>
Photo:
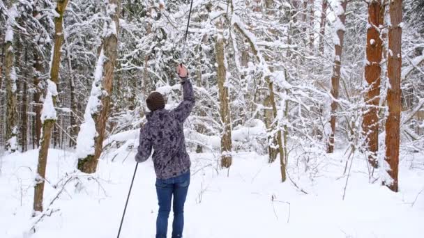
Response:
[{"label": "person in knit hat, patterned jacket and jeans, seen from behind", "polygon": [[159,203],[156,238],[167,237],[172,198],[172,238],[183,237],[184,203],[190,184],[191,162],[185,150],[183,123],[195,106],[195,96],[187,68],[179,65],[177,73],[183,88],[183,102],[168,111],[160,93],[153,92],[147,97],[146,104],[150,113],[146,115],[147,122],[140,131],[139,147],[135,156],[137,162],[144,162],[149,159],[152,148],[154,150],[152,159]]}]

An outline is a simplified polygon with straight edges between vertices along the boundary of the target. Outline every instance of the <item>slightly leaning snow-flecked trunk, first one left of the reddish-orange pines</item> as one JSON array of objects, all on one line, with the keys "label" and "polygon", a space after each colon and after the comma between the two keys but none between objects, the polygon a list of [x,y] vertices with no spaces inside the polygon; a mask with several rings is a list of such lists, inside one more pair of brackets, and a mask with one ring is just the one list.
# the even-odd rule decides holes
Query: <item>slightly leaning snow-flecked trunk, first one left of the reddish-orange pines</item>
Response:
[{"label": "slightly leaning snow-flecked trunk, first one left of the reddish-orange pines", "polygon": [[[331,77],[331,95],[334,99],[337,100],[339,97],[339,84],[340,84],[340,70],[342,67],[342,49],[343,49],[343,40],[345,38],[345,21],[346,21],[346,6],[347,0],[338,0],[335,6],[335,17],[334,27],[334,48],[335,48],[335,57],[333,65],[333,76]],[[338,102],[334,100],[331,102],[331,132],[327,141],[327,152],[333,153],[334,151],[334,134],[335,134],[335,113],[338,108]]]}]

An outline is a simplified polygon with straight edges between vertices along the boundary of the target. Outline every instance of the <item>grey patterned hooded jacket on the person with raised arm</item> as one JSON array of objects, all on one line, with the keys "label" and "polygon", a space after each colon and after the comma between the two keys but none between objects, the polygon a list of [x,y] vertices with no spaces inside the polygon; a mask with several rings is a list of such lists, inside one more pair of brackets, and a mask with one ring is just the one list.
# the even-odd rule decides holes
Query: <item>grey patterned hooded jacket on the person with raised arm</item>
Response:
[{"label": "grey patterned hooded jacket on the person with raised arm", "polygon": [[153,148],[156,177],[166,180],[190,170],[190,157],[185,150],[183,123],[195,106],[195,95],[190,80],[182,83],[183,102],[171,111],[160,109],[146,115],[147,123],[140,130],[140,141],[135,161],[149,159]]}]

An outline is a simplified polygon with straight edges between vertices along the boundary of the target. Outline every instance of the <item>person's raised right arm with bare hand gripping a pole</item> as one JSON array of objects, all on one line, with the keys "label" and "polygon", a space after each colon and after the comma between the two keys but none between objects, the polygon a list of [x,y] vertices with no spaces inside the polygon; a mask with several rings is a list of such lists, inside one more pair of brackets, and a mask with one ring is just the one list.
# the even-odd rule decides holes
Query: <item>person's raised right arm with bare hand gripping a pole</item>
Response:
[{"label": "person's raised right arm with bare hand gripping a pole", "polygon": [[177,73],[181,78],[181,87],[183,88],[183,102],[181,102],[176,107],[176,109],[173,110],[173,112],[176,120],[179,120],[179,122],[184,122],[195,106],[195,93],[193,92],[190,79],[188,79],[187,69],[183,65],[179,65]]}]

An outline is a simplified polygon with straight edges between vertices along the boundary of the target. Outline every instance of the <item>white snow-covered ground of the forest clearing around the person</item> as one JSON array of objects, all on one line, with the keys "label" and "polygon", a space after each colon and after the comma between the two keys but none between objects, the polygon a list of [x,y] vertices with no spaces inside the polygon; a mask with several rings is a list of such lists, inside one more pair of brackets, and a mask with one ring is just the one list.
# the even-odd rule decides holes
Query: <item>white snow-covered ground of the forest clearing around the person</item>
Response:
[{"label": "white snow-covered ground of the forest clearing around the person", "polygon": [[[319,159],[316,173],[298,171],[296,158],[290,158],[289,175],[300,189],[289,180],[280,182],[278,161],[267,164],[266,157],[252,152],[236,154],[230,170],[217,170],[213,154],[191,154],[184,236],[423,237],[424,157],[402,154],[401,191],[393,193],[379,182],[368,182],[363,155],[356,155],[342,200],[347,178],[342,175],[343,152]],[[92,179],[73,172],[73,153],[50,150],[44,204],[53,212],[36,223],[36,232],[29,235],[40,216],[31,219],[37,154],[32,150],[1,157],[0,237],[116,237],[135,167],[134,154],[122,152],[113,162],[105,156]],[[77,178],[63,191],[61,186],[53,188],[73,176]],[[140,164],[121,237],[154,237],[158,210],[154,182],[152,161]]]}]

